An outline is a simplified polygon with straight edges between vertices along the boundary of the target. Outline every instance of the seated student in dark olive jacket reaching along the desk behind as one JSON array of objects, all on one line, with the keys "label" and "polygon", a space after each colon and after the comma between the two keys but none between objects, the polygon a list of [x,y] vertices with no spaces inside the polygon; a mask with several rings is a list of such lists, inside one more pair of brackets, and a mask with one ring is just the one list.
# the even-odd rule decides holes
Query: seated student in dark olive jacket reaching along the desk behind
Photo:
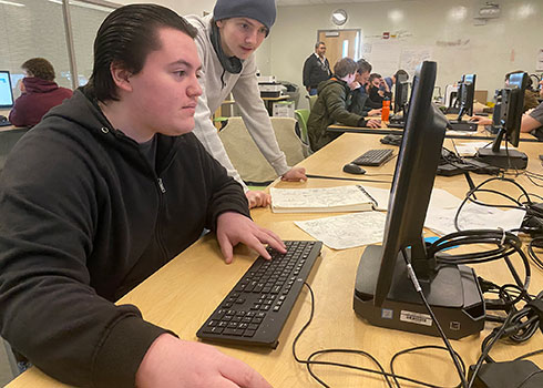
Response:
[{"label": "seated student in dark olive jacket reaching along the desk behind", "polygon": [[350,126],[381,126],[379,120],[366,120],[348,110],[350,105],[350,85],[355,82],[357,69],[357,62],[350,58],[344,58],[334,67],[334,76],[319,83],[318,99],[307,121],[311,150],[320,150],[340,135],[340,133],[332,133],[326,130],[335,122]]}]

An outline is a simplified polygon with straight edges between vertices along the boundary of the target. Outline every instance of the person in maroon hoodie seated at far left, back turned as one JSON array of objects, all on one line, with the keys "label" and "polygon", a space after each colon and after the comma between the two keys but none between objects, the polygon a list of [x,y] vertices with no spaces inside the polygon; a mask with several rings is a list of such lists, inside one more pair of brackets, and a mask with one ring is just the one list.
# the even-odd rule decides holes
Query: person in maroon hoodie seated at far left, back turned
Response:
[{"label": "person in maroon hoodie seated at far left, back turned", "polygon": [[54,69],[47,59],[29,59],[21,68],[27,76],[22,79],[22,94],[16,100],[9,120],[17,126],[32,126],[38,124],[51,108],[70,99],[72,91],[54,82]]}]

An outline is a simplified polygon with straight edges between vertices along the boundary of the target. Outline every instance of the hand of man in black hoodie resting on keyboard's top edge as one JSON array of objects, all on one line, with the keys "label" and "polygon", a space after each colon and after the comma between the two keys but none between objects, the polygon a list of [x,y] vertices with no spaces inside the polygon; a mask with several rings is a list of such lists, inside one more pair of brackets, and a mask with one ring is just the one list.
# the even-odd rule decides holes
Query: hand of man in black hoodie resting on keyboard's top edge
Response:
[{"label": "hand of man in black hoodie resting on keyboard's top edge", "polygon": [[255,249],[264,258],[272,258],[265,248],[265,244],[280,253],[286,253],[285,244],[274,232],[255,224],[250,218],[226,212],[217,217],[217,241],[221,252],[227,264],[232,263],[234,247],[243,243]]}]

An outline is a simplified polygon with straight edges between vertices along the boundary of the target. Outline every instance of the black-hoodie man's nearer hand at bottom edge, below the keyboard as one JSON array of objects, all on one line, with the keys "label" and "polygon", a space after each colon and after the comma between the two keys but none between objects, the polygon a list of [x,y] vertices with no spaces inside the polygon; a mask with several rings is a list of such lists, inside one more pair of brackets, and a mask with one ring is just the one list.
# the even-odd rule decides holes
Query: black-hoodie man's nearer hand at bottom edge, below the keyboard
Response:
[{"label": "black-hoodie man's nearer hand at bottom edge, below the keyboard", "polygon": [[136,372],[137,388],[272,388],[247,364],[213,346],[163,334],[151,345]]}]

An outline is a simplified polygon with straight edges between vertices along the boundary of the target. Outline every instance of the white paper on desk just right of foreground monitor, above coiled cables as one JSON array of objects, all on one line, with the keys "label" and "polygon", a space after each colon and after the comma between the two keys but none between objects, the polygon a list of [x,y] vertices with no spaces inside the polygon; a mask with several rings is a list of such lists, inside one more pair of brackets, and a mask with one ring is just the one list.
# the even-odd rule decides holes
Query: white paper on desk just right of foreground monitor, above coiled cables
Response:
[{"label": "white paper on desk just right of foreground monitor, above coiled cables", "polygon": [[[424,226],[443,236],[457,232],[454,215],[458,208],[429,207]],[[510,231],[521,226],[525,211],[481,206],[467,203],[459,216],[459,227],[464,229],[496,229],[499,227]]]}]

